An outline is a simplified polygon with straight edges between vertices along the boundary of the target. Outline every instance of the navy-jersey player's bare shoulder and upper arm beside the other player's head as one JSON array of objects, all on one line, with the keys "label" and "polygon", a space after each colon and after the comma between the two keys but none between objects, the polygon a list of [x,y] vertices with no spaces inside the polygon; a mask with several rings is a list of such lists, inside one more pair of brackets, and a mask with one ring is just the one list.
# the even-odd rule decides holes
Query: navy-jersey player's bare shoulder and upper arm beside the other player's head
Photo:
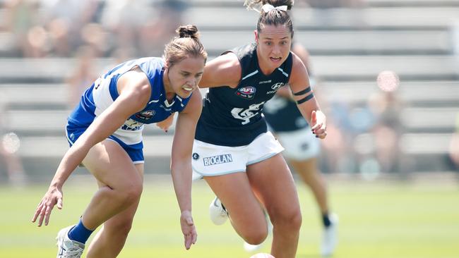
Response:
[{"label": "navy-jersey player's bare shoulder and upper arm beside the other player's head", "polygon": [[236,87],[241,80],[242,68],[237,56],[229,52],[205,64],[199,87]]}]

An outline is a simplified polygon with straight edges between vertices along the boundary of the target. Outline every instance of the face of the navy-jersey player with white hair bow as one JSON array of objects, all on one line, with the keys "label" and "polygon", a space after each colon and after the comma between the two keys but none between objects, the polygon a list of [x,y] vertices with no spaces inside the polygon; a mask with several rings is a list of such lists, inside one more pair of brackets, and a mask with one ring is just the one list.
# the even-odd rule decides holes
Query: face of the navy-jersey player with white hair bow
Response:
[{"label": "face of the navy-jersey player with white hair bow", "polygon": [[287,60],[292,44],[292,34],[287,26],[267,25],[260,33],[255,31],[255,40],[260,66],[274,70]]}]

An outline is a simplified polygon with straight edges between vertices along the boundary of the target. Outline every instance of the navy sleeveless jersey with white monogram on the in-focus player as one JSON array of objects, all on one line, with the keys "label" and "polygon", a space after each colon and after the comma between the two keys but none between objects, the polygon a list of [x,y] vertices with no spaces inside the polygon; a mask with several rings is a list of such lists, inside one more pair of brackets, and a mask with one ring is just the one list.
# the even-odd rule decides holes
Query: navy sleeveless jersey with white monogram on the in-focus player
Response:
[{"label": "navy sleeveless jersey with white monogram on the in-focus player", "polygon": [[263,104],[283,85],[292,71],[292,53],[270,75],[258,65],[256,44],[225,51],[237,55],[242,68],[239,85],[212,87],[203,99],[203,111],[196,126],[196,140],[229,147],[249,145],[266,133]]}]

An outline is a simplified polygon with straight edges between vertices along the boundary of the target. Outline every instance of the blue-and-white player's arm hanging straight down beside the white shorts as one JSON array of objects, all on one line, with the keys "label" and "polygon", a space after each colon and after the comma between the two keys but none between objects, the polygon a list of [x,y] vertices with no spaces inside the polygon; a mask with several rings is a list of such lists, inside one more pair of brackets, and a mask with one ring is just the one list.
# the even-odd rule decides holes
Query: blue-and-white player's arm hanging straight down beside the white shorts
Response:
[{"label": "blue-and-white player's arm hanging straight down beside the white shorts", "polygon": [[172,143],[171,173],[175,195],[180,208],[181,231],[184,234],[185,248],[188,250],[197,239],[196,228],[191,216],[191,152],[193,151],[196,123],[202,109],[202,97],[199,89],[193,95],[185,109],[179,113]]}]

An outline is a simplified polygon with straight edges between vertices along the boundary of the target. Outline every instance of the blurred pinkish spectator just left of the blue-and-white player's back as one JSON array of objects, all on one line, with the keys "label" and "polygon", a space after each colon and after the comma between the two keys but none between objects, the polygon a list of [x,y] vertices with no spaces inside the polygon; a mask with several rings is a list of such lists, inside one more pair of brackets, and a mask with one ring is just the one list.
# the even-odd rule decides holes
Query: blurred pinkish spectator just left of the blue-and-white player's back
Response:
[{"label": "blurred pinkish spectator just left of the blue-and-white player's back", "polygon": [[76,53],[76,68],[67,80],[68,86],[68,107],[73,109],[83,92],[97,78],[97,70],[93,65],[96,51],[93,46],[85,45],[78,49]]}]

